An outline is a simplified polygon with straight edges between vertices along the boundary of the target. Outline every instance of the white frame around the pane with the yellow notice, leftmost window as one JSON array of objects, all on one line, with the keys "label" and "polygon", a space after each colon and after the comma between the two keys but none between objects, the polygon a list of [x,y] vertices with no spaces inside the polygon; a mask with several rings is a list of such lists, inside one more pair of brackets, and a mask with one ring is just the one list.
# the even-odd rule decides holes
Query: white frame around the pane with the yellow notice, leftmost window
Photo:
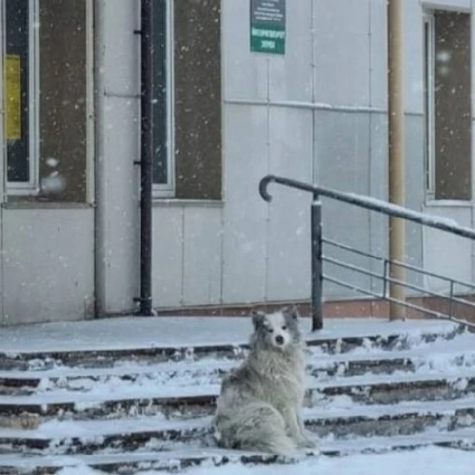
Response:
[{"label": "white frame around the pane with the yellow notice, leftmost window", "polygon": [[[2,10],[3,14],[3,58],[6,57],[6,13],[5,2],[3,0]],[[7,194],[11,195],[36,195],[39,193],[39,156],[40,156],[40,116],[39,116],[39,101],[40,101],[40,8],[39,0],[28,0],[28,79],[29,79],[29,94],[28,94],[28,151],[29,151],[29,178],[28,182],[7,182]],[[3,60],[3,81],[5,78],[6,61]],[[5,98],[4,98],[5,100]],[[3,107],[4,109],[4,107]],[[4,156],[4,170],[5,180],[8,177],[8,156],[6,147],[6,138],[3,141],[3,156]]]}]

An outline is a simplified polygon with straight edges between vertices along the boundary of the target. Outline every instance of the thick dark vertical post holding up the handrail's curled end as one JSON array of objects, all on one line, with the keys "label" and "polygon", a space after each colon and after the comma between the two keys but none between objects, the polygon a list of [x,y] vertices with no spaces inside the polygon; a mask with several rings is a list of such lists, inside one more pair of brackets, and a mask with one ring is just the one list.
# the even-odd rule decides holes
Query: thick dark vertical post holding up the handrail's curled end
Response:
[{"label": "thick dark vertical post holding up the handrail's curled end", "polygon": [[312,201],[312,331],[323,328],[322,202]]}]

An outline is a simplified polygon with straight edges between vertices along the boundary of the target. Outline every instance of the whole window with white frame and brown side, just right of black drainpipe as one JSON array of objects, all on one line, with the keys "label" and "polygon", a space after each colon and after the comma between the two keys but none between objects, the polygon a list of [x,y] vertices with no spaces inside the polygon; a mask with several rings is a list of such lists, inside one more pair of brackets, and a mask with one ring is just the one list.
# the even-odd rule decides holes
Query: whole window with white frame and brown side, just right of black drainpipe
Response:
[{"label": "whole window with white frame and brown side, just right of black drainpipe", "polygon": [[155,196],[221,199],[221,0],[153,2]]}]

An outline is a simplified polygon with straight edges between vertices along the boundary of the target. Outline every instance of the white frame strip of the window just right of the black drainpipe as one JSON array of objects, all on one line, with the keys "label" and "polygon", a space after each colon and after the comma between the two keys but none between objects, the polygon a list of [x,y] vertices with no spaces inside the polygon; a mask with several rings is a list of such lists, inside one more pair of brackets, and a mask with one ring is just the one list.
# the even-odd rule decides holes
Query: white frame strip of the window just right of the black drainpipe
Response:
[{"label": "white frame strip of the window just right of the black drainpipe", "polygon": [[174,94],[174,0],[166,0],[166,144],[167,144],[167,183],[154,183],[154,198],[175,197],[175,94]]}]

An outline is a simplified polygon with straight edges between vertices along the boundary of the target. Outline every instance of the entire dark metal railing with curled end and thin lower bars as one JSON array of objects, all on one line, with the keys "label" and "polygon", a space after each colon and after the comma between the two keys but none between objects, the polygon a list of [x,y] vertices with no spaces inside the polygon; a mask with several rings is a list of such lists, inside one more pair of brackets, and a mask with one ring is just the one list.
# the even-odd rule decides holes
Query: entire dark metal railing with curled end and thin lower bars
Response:
[{"label": "entire dark metal railing with curled end and thin lower bars", "polygon": [[[330,282],[333,282],[338,285],[342,285],[348,288],[353,288],[356,291],[360,291],[362,293],[368,294],[368,295],[374,295],[377,297],[380,297],[379,295],[375,295],[374,292],[370,292],[368,290],[355,287],[353,285],[349,285],[347,283],[344,283],[342,281],[339,281],[338,279],[334,279],[330,276],[324,275],[323,274],[323,261],[327,260],[329,261],[329,258],[324,258],[322,256],[322,244],[324,242],[328,242],[329,244],[337,245],[338,247],[341,247],[343,249],[346,249],[348,251],[353,251],[361,255],[367,255],[368,257],[373,257],[376,259],[380,259],[384,263],[384,278],[383,278],[383,292],[381,298],[384,298],[388,301],[395,302],[401,305],[405,305],[406,307],[413,308],[415,310],[419,310],[422,312],[430,313],[432,315],[437,316],[438,318],[445,318],[449,319],[452,321],[457,321],[461,323],[465,323],[466,325],[471,326],[471,324],[467,322],[462,322],[459,321],[455,318],[452,317],[452,315],[445,315],[441,314],[440,312],[435,312],[435,311],[429,311],[428,309],[424,309],[424,307],[420,307],[418,305],[410,304],[409,302],[405,301],[399,301],[397,299],[394,299],[390,296],[386,295],[386,285],[388,282],[395,283],[396,281],[392,278],[388,278],[386,276],[387,274],[387,265],[400,265],[404,266],[408,269],[411,269],[413,266],[409,266],[408,264],[404,264],[401,262],[392,262],[389,261],[388,259],[381,259],[376,256],[373,256],[371,254],[367,254],[363,251],[359,251],[357,249],[350,248],[350,246],[345,246],[343,244],[335,243],[334,241],[331,241],[329,239],[324,240],[322,236],[322,202],[320,201],[321,196],[325,196],[337,201],[342,201],[344,203],[348,204],[353,204],[355,206],[365,208],[371,211],[377,211],[379,213],[383,213],[387,216],[393,216],[396,218],[402,218],[406,219],[408,221],[412,221],[414,223],[421,224],[423,226],[427,226],[429,228],[434,228],[438,229],[441,231],[446,231],[448,233],[451,233],[456,236],[461,236],[463,238],[469,238],[472,240],[475,240],[475,230],[472,228],[467,228],[467,227],[462,227],[459,226],[455,221],[446,219],[446,218],[441,218],[441,217],[436,217],[436,216],[431,216],[427,215],[424,213],[420,213],[418,211],[412,211],[410,209],[404,208],[403,206],[387,203],[383,200],[372,198],[369,196],[364,196],[361,194],[356,194],[356,193],[348,193],[344,191],[338,191],[338,190],[333,190],[331,188],[326,188],[326,187],[321,187],[321,186],[316,186],[316,185],[310,185],[308,183],[300,182],[297,180],[292,180],[289,178],[285,177],[279,177],[276,175],[267,175],[265,176],[259,183],[259,193],[261,197],[267,201],[270,202],[272,200],[272,196],[269,194],[267,191],[267,188],[269,184],[271,183],[277,183],[280,185],[284,185],[290,188],[295,188],[297,190],[302,190],[302,191],[307,191],[312,193],[313,195],[313,201],[311,205],[311,220],[312,220],[312,329],[313,330],[320,330],[323,328],[323,280],[324,278]],[[336,261],[333,260],[333,264],[335,265],[341,265],[341,261]],[[335,262],[336,261],[336,262]],[[344,264],[344,263],[343,263]],[[378,275],[374,275],[373,272],[363,270],[363,269],[358,269],[354,268],[355,266],[351,266],[350,264],[345,264],[343,267],[350,268],[352,270],[358,270],[358,272],[362,272],[363,274],[369,275],[371,277],[380,277]],[[419,270],[416,268],[413,268],[413,270]],[[454,281],[453,279],[449,278],[444,278],[442,276],[437,276],[431,273],[426,272],[427,275],[433,275],[434,277],[439,277],[441,279],[445,279],[450,282],[450,314],[452,313],[452,306],[454,302],[454,295],[453,295],[453,290],[454,290],[454,283],[460,284],[460,285],[466,285],[467,287],[475,287],[475,285],[470,285],[458,281]],[[413,285],[410,285],[408,283],[400,282],[397,281],[398,285],[406,285],[410,288],[414,288]],[[418,290],[425,291],[424,289],[418,287]],[[427,293],[427,291],[425,291]],[[432,293],[432,292],[428,292]],[[437,294],[438,295],[438,294]],[[442,295],[438,295],[441,297],[444,297]],[[448,298],[448,297],[445,297]],[[467,301],[462,301],[460,299],[458,300],[457,303],[464,303],[468,304]],[[472,302],[470,303],[470,306],[473,306]]]}]

